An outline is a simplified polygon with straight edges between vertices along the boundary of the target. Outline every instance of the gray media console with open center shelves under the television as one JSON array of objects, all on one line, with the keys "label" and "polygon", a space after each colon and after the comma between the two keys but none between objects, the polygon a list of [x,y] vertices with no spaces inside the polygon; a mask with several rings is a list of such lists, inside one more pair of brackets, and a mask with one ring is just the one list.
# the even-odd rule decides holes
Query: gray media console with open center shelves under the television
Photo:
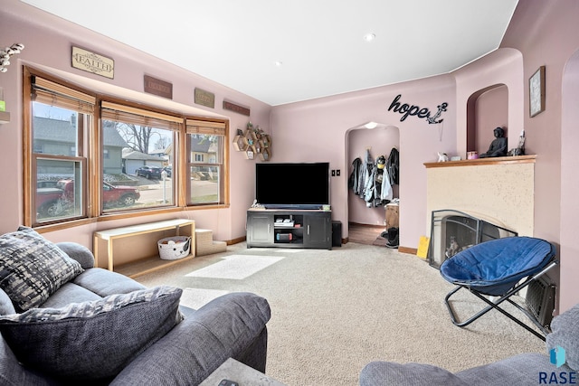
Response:
[{"label": "gray media console with open center shelves under the television", "polygon": [[247,248],[332,249],[332,212],[250,209]]}]

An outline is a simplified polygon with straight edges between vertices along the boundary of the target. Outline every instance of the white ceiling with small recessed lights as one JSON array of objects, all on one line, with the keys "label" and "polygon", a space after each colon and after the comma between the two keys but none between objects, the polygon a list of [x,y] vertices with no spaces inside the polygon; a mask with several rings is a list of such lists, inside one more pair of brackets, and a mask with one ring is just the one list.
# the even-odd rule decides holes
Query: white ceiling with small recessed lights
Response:
[{"label": "white ceiling with small recessed lights", "polygon": [[22,1],[276,106],[454,71],[518,0]]}]

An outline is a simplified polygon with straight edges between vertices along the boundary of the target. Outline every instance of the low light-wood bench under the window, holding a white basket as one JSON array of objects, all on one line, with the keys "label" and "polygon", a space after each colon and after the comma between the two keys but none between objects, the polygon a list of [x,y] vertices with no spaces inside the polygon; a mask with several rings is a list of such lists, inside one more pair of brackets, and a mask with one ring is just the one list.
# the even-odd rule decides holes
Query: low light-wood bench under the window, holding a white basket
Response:
[{"label": "low light-wood bench under the window, holding a white basket", "polygon": [[[137,237],[144,234],[151,234],[156,232],[164,232],[164,231],[171,231],[175,230],[176,235],[180,235],[182,228],[189,228],[189,231],[186,233],[184,232],[181,234],[182,236],[191,236],[191,253],[189,256],[186,256],[182,259],[175,259],[175,260],[163,260],[159,258],[159,256],[152,256],[145,259],[138,259],[136,261],[131,261],[127,264],[122,266],[115,266],[115,257],[114,257],[114,246],[117,244],[118,240],[127,239],[131,237]],[[161,237],[162,238],[162,237]],[[155,249],[157,249],[157,240],[160,238],[148,238],[148,242],[151,243],[151,247],[153,247],[153,243],[155,244]],[[96,231],[94,232],[94,256],[96,261],[96,266],[99,266],[99,259],[100,259],[100,241],[104,240],[106,242],[106,251],[109,260],[108,267],[109,270],[114,270],[115,272],[119,272],[125,276],[130,278],[136,278],[140,275],[145,275],[149,272],[153,272],[157,269],[166,268],[168,266],[186,261],[188,259],[193,259],[195,257],[195,221],[193,220],[184,220],[184,219],[175,219],[175,220],[166,220],[166,221],[157,221],[157,222],[148,222],[145,224],[136,224],[131,225],[128,227],[123,228],[113,228],[106,231]]]}]

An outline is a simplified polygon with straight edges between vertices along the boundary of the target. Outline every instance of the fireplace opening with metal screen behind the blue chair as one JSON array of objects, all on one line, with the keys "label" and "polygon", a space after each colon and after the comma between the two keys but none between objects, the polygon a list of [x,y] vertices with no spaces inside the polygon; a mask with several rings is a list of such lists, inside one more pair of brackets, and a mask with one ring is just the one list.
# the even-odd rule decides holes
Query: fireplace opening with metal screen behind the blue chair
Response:
[{"label": "fireplace opening with metal screen behind the blue chair", "polygon": [[471,216],[468,213],[444,209],[432,211],[431,242],[427,259],[440,268],[446,259],[483,241],[517,236],[516,231]]}]

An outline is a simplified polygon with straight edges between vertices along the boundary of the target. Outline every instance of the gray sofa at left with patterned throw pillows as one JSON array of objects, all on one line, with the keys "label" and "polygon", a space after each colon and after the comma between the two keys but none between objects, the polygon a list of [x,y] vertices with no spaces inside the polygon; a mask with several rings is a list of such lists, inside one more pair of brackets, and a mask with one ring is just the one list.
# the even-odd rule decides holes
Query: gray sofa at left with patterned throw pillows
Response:
[{"label": "gray sofa at left with patterned throw pillows", "polygon": [[0,236],[0,384],[196,385],[228,358],[265,372],[263,297],[193,310],[181,289],[94,268],[89,249],[30,228]]}]

